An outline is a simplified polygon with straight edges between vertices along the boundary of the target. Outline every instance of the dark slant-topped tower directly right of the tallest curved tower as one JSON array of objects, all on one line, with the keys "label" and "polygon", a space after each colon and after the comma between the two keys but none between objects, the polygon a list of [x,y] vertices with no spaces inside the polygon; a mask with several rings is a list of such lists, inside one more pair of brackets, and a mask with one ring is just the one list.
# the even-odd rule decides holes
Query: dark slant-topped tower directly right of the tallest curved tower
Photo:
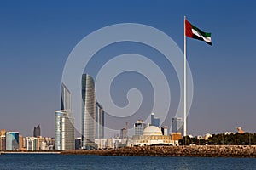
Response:
[{"label": "dark slant-topped tower directly right of the tallest curved tower", "polygon": [[104,110],[102,105],[96,102],[96,139],[104,138]]}]

